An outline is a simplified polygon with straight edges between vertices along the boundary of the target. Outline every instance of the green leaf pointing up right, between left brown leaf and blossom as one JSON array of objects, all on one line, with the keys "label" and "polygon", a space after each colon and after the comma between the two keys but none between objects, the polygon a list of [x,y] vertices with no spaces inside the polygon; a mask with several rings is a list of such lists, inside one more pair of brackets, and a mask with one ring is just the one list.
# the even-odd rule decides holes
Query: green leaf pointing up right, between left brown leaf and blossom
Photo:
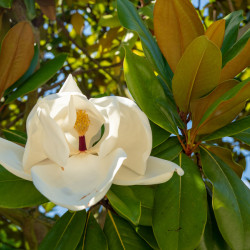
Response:
[{"label": "green leaf pointing up right, between left brown leaf and blossom", "polygon": [[14,101],[16,98],[28,94],[29,92],[42,86],[63,66],[66,58],[67,54],[62,53],[42,65],[39,70],[37,70],[22,86],[20,86],[7,98],[5,103],[8,104]]}]

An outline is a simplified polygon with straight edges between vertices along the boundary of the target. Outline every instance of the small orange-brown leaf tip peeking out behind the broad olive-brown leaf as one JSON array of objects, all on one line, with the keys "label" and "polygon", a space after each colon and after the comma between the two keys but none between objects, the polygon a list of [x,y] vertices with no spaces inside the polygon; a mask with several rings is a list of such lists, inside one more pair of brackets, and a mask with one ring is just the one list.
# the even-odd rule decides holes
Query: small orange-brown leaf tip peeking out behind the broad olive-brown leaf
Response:
[{"label": "small orange-brown leaf tip peeking out behind the broad olive-brown leaf", "polygon": [[221,48],[223,43],[225,25],[226,21],[224,19],[218,20],[211,24],[205,32],[205,35],[208,37],[208,39],[214,42],[219,48]]}]

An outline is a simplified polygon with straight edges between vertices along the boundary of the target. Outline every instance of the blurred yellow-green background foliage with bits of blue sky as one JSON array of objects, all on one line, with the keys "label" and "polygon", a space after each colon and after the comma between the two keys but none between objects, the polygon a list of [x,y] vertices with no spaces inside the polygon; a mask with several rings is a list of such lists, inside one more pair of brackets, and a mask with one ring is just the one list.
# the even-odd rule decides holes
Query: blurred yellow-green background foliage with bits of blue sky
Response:
[{"label": "blurred yellow-green background foliage with bits of blue sky", "polygon": [[[132,0],[147,24],[153,30],[154,1]],[[205,27],[242,9],[245,20],[239,36],[249,28],[248,0],[194,0]],[[0,43],[8,30],[20,21],[32,24],[35,42],[39,48],[37,69],[46,61],[64,52],[68,54],[64,66],[37,91],[1,106],[0,129],[25,131],[25,120],[39,97],[55,93],[68,74],[72,74],[82,92],[89,97],[120,95],[129,97],[123,76],[123,44],[134,53],[143,55],[138,35],[127,31],[119,22],[116,1],[113,0],[0,0]],[[246,69],[238,77],[249,77]],[[250,103],[240,114],[250,114]],[[0,133],[2,133],[0,131]],[[250,148],[233,138],[216,140],[219,146],[233,150],[234,160],[246,166]],[[245,180],[246,175],[245,175]],[[102,224],[102,213],[95,216]],[[35,249],[58,218],[58,208],[52,203],[29,209],[0,209],[0,249]],[[59,214],[62,213],[59,211]]]}]

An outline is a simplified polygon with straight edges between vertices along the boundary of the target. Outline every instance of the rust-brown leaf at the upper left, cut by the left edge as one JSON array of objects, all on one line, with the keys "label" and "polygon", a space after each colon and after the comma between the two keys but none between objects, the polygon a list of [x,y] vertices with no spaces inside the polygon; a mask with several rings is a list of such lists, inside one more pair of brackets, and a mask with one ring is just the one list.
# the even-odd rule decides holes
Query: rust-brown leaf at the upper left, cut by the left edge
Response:
[{"label": "rust-brown leaf at the upper left, cut by the left edge", "polygon": [[28,22],[20,22],[5,36],[0,53],[0,96],[29,68],[34,56],[34,35]]}]

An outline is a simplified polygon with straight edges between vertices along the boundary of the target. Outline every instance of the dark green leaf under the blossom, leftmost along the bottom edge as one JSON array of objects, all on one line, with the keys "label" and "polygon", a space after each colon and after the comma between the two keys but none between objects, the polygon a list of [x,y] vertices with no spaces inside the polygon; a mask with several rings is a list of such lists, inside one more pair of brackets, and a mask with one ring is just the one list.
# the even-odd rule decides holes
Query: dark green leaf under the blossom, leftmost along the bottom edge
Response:
[{"label": "dark green leaf under the blossom, leftmost along the bottom edge", "polygon": [[85,221],[85,210],[65,213],[45,236],[39,246],[39,250],[75,249],[83,233]]}]

